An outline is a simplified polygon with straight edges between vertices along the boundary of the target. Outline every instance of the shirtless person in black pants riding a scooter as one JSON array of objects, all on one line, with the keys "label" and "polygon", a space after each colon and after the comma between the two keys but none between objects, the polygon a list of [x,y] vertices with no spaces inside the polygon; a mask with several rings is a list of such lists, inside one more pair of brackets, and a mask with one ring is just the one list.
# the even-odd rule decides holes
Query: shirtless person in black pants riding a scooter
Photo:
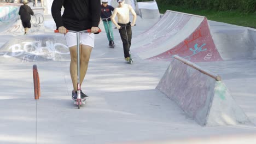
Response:
[{"label": "shirtless person in black pants riding a scooter", "polygon": [[[130,61],[130,47],[131,47],[131,38],[132,30],[131,26],[135,26],[137,15],[130,4],[125,4],[125,0],[117,0],[118,7],[114,9],[114,12],[111,16],[111,20],[115,26],[119,29],[121,40],[123,41],[124,48],[124,57],[125,61]],[[130,12],[133,16],[132,22],[130,22]],[[118,17],[118,22],[115,21],[115,16]],[[121,28],[126,27],[126,28]],[[127,37],[126,37],[127,33]],[[129,45],[127,44],[127,41]]]}]

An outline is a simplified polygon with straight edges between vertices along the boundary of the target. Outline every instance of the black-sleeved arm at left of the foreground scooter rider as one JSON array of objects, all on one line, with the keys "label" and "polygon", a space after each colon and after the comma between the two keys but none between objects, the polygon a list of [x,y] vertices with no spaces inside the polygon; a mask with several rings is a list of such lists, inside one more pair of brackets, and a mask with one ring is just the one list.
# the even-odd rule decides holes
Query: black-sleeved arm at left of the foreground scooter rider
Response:
[{"label": "black-sleeved arm at left of the foreground scooter rider", "polygon": [[63,21],[61,17],[61,8],[65,0],[54,0],[51,5],[51,15],[56,23],[56,28],[63,27]]}]

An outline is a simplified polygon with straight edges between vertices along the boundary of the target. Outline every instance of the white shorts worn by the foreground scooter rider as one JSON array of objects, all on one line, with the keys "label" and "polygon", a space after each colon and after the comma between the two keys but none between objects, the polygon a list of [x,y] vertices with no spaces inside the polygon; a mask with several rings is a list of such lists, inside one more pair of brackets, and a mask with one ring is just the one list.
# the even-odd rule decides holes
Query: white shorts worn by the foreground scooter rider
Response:
[{"label": "white shorts worn by the foreground scooter rider", "polygon": [[[94,33],[80,33],[80,44],[88,45],[94,47]],[[65,34],[65,39],[68,47],[77,45],[77,34],[76,33],[67,33]]]}]

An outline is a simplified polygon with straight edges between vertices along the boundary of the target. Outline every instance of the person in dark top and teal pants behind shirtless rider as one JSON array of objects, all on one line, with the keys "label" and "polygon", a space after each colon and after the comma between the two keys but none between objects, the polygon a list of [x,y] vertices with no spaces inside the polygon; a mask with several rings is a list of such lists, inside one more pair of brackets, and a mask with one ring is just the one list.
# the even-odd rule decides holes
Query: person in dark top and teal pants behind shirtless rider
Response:
[{"label": "person in dark top and teal pants behind shirtless rider", "polygon": [[108,5],[108,0],[102,0],[101,3],[101,19],[109,41],[108,45],[111,46],[114,45],[114,35],[110,16],[112,15],[111,11],[114,11],[114,8],[111,5]]}]

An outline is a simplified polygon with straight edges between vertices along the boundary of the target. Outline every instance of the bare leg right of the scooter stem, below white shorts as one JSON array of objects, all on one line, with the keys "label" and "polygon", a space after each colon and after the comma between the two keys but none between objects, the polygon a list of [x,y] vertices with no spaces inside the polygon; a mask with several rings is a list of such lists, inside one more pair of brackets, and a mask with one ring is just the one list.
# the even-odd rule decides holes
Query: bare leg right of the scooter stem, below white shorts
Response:
[{"label": "bare leg right of the scooter stem, below white shorts", "polygon": [[88,69],[88,64],[91,56],[91,50],[92,47],[88,45],[82,45],[81,49],[81,60],[80,60],[80,83],[82,85],[82,82],[84,80],[84,77],[86,75],[87,69]]}]

